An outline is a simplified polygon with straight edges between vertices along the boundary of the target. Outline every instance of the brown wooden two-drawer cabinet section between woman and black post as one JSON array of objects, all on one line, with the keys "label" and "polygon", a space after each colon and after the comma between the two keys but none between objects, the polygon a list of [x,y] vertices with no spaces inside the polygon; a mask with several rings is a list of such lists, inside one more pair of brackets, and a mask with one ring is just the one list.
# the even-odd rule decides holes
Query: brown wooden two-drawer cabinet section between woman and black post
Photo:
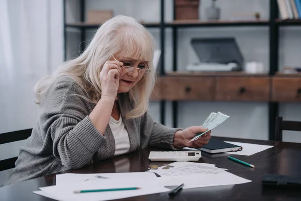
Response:
[{"label": "brown wooden two-drawer cabinet section between woman and black post", "polygon": [[269,76],[162,76],[152,100],[268,102]]}]

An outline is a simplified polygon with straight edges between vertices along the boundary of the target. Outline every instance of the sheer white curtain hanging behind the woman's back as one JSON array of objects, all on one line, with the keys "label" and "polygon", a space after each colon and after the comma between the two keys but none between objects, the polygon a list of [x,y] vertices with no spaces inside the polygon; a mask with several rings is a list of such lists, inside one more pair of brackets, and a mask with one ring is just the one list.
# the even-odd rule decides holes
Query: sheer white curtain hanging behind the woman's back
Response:
[{"label": "sheer white curtain hanging behind the woman's back", "polygon": [[0,0],[0,133],[33,128],[34,85],[63,61],[62,0]]}]

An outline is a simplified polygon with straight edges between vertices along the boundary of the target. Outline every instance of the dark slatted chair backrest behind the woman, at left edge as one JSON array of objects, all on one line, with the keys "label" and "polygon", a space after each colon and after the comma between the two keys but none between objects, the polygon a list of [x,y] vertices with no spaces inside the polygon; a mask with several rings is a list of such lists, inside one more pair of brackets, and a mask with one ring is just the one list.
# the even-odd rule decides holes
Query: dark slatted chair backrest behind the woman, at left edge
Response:
[{"label": "dark slatted chair backrest behind the woman, at left edge", "polygon": [[[17,142],[20,140],[26,140],[29,136],[31,136],[32,130],[33,129],[26,129],[21,131],[2,133],[0,134],[0,145],[10,143],[10,142]],[[1,160],[0,171],[14,168],[17,159],[18,157]]]}]

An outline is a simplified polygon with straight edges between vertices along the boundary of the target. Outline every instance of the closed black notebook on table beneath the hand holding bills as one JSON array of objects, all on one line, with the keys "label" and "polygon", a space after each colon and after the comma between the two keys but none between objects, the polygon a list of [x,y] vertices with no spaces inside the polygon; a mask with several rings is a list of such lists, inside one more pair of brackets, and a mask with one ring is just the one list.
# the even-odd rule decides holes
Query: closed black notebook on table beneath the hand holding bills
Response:
[{"label": "closed black notebook on table beneath the hand holding bills", "polygon": [[222,140],[211,138],[209,140],[209,143],[204,145],[199,150],[211,154],[216,154],[216,153],[224,153],[224,152],[231,152],[231,151],[241,151],[242,147],[234,144],[226,143]]}]

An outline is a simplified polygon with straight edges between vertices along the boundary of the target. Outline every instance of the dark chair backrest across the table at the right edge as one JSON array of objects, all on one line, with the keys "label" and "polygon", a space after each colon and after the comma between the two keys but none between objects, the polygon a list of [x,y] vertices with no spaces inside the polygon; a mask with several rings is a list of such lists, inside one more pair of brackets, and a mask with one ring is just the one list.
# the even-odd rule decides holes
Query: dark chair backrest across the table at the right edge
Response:
[{"label": "dark chair backrest across the table at the right edge", "polygon": [[275,140],[282,141],[282,131],[301,131],[301,122],[284,121],[282,117],[276,117]]}]

